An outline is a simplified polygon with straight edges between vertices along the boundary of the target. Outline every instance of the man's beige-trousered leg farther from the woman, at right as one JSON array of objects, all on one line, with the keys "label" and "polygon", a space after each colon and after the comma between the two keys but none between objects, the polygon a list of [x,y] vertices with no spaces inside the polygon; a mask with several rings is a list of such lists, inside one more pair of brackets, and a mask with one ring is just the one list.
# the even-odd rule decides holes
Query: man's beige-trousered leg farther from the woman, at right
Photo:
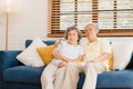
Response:
[{"label": "man's beige-trousered leg farther from the woman, at right", "polygon": [[102,62],[88,62],[84,66],[85,81],[83,89],[95,89],[98,75],[105,71],[106,68]]}]

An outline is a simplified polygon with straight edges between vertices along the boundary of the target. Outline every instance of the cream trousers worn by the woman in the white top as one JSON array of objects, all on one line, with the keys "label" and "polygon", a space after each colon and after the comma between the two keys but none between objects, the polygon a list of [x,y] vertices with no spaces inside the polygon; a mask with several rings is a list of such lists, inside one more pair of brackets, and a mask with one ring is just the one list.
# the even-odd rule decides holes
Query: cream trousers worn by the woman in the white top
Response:
[{"label": "cream trousers worn by the woman in the white top", "polygon": [[54,65],[48,65],[41,75],[42,89],[61,89],[65,73],[65,67],[58,68]]}]

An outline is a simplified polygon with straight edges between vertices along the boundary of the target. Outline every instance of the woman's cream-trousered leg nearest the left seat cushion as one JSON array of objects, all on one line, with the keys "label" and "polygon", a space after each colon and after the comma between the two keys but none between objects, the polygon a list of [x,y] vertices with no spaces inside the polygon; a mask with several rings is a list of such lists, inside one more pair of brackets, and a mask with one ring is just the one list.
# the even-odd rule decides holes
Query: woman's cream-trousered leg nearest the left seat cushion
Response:
[{"label": "woman's cream-trousered leg nearest the left seat cushion", "polygon": [[54,65],[48,65],[41,75],[42,89],[53,89],[54,73],[58,69]]}]

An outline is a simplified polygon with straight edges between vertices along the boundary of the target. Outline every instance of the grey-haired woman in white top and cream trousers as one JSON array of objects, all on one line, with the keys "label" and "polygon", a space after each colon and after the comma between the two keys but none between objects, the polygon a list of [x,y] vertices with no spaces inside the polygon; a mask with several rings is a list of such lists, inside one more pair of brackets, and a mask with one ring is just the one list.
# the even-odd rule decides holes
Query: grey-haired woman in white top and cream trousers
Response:
[{"label": "grey-haired woman in white top and cream trousers", "polygon": [[68,62],[80,62],[83,58],[83,47],[78,44],[81,33],[75,27],[69,27],[65,41],[61,41],[52,51],[54,59],[43,70],[41,76],[42,89],[61,89],[65,66]]}]

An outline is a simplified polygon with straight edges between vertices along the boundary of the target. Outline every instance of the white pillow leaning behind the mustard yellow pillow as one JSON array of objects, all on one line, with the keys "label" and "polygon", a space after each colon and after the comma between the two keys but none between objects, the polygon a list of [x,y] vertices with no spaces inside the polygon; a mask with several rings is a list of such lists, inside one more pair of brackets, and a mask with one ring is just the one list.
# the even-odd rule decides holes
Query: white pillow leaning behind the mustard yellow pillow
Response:
[{"label": "white pillow leaning behind the mustard yellow pillow", "polygon": [[32,43],[24,49],[21,53],[17,56],[17,59],[24,63],[25,66],[32,67],[41,67],[44,66],[44,62],[40,58],[39,53],[37,52],[38,47],[45,47],[47,44],[43,43],[38,37],[33,39]]}]

